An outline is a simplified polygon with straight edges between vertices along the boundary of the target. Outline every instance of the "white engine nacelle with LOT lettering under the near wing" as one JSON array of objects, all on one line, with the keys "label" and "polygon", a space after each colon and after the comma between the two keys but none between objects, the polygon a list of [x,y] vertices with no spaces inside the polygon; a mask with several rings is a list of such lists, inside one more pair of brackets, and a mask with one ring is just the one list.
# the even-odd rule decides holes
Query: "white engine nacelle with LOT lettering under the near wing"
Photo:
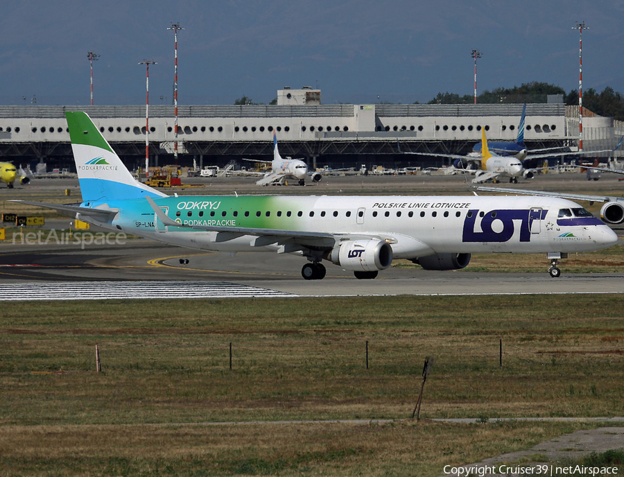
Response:
[{"label": "white engine nacelle with LOT lettering under the near wing", "polygon": [[392,264],[392,247],[377,240],[348,241],[334,248],[327,259],[353,272],[384,270]]}]

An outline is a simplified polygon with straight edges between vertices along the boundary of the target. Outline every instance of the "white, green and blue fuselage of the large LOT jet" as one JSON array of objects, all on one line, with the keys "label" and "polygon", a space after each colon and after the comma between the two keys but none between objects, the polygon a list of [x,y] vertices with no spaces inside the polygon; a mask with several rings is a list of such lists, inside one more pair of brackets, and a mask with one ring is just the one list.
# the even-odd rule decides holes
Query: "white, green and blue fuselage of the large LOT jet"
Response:
[{"label": "white, green and blue fuselage of the large LOT jet", "polygon": [[120,209],[112,228],[183,247],[227,252],[279,252],[288,243],[330,249],[335,245],[334,239],[327,238],[267,242],[254,234],[237,234],[239,227],[263,229],[265,236],[271,229],[326,232],[336,237],[336,243],[375,237],[390,243],[395,258],[406,259],[438,253],[584,252],[617,242],[616,234],[593,216],[560,219],[561,209],[581,207],[558,198],[227,196],[168,197],[155,202],[182,225],[227,229],[159,225],[146,200],[109,202]]}]

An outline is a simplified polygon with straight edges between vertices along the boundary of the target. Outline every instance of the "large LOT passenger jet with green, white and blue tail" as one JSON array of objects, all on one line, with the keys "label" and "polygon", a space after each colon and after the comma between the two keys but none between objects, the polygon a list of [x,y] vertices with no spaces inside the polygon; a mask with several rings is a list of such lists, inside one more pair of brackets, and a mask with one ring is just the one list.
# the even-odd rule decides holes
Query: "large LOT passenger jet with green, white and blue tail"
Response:
[{"label": "large LOT passenger jet with green, white and blue tail", "polygon": [[304,279],[322,260],[372,279],[392,259],[427,270],[464,268],[471,253],[548,254],[550,274],[569,252],[600,250],[618,237],[569,200],[478,196],[184,196],[137,182],[89,116],[66,112],[83,202],[56,209],[113,231],[220,252],[295,253]]}]

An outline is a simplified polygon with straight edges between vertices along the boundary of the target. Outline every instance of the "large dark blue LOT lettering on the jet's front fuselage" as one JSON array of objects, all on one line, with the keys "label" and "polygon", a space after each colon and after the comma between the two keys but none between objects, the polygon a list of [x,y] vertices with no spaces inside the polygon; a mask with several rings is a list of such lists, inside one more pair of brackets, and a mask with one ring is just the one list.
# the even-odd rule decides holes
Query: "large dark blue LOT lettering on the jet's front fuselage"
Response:
[{"label": "large dark blue LOT lettering on the jet's front fuselage", "polygon": [[[481,216],[478,209],[470,209],[464,220],[462,241],[507,242],[516,227],[520,227],[519,241],[530,242],[533,220],[544,220],[546,212],[542,209],[499,209],[483,212]],[[478,225],[477,218],[480,218]]]}]

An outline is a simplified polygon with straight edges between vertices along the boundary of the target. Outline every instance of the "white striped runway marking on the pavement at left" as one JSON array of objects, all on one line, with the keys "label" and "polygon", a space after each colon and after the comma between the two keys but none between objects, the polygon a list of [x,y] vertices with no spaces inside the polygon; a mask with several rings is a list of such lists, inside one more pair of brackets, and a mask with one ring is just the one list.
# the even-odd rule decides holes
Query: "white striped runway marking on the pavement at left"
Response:
[{"label": "white striped runway marking on the pavement at left", "polygon": [[227,281],[65,281],[53,283],[0,284],[0,301],[31,300],[131,300],[184,298],[296,297],[257,286]]}]

